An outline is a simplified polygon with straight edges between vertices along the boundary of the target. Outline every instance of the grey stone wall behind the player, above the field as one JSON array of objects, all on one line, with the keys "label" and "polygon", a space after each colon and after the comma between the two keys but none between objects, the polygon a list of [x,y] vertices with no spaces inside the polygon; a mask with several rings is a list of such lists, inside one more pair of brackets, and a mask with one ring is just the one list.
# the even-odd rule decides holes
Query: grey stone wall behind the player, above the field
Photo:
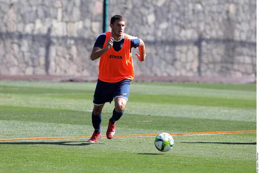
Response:
[{"label": "grey stone wall behind the player, above the field", "polygon": [[[109,0],[115,14],[145,42],[136,76],[256,79],[256,1]],[[101,0],[0,0],[0,75],[96,77],[102,18]]]}]

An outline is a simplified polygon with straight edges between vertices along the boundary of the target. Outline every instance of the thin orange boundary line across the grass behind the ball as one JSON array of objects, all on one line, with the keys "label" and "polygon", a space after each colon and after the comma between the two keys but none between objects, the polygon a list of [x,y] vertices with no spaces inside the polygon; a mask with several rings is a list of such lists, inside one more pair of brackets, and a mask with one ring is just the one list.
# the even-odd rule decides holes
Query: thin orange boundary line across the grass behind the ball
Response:
[{"label": "thin orange boundary line across the grass behind the ball", "polygon": [[[170,135],[205,135],[205,134],[226,134],[226,133],[251,133],[256,130],[250,131],[221,131],[221,132],[192,132],[192,133],[170,133]],[[138,135],[114,135],[114,137],[133,137],[133,136],[156,136],[158,134],[138,134]],[[47,137],[47,138],[20,138],[20,139],[0,139],[6,140],[49,140],[49,139],[76,139],[76,138],[90,138],[91,136],[74,136],[74,137]],[[106,136],[102,136],[106,137]]]}]

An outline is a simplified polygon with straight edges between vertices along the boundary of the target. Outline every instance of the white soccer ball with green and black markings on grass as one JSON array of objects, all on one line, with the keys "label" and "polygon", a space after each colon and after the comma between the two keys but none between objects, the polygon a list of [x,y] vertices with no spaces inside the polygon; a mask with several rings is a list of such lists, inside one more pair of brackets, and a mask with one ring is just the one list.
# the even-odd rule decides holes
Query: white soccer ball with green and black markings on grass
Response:
[{"label": "white soccer ball with green and black markings on grass", "polygon": [[168,133],[160,133],[155,138],[155,147],[159,151],[166,152],[173,148],[173,137]]}]

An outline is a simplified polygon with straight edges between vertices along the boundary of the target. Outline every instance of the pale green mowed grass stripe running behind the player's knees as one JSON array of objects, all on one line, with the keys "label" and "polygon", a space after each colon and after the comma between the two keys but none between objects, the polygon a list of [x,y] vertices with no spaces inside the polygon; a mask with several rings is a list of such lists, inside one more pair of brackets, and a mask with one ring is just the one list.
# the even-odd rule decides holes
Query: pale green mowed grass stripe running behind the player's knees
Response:
[{"label": "pale green mowed grass stripe running behind the player's knees", "polygon": [[[53,97],[41,97],[39,95],[15,95],[0,94],[2,102],[0,105],[32,107],[32,108],[51,108],[51,109],[67,109],[92,112],[92,100],[81,99],[64,99]],[[105,104],[104,112],[111,114],[114,109],[114,102]],[[191,110],[191,111],[190,111]],[[219,120],[242,120],[256,121],[256,109],[241,109],[228,107],[211,107],[196,105],[180,105],[165,103],[143,103],[143,102],[127,102],[125,113],[139,115],[157,115],[172,117],[190,117],[205,118]],[[246,116],[244,116],[246,115]]]}]

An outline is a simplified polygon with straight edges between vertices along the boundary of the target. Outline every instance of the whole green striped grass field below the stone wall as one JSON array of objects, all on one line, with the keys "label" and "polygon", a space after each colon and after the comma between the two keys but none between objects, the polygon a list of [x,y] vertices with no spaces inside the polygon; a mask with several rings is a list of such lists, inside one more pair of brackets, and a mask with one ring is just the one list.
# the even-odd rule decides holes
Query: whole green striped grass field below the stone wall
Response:
[{"label": "whole green striped grass field below the stone wall", "polygon": [[[0,139],[90,136],[96,83],[0,81]],[[114,102],[105,104],[106,134]],[[255,84],[138,83],[115,135],[256,130]],[[0,172],[256,172],[256,133],[0,141]]]}]

